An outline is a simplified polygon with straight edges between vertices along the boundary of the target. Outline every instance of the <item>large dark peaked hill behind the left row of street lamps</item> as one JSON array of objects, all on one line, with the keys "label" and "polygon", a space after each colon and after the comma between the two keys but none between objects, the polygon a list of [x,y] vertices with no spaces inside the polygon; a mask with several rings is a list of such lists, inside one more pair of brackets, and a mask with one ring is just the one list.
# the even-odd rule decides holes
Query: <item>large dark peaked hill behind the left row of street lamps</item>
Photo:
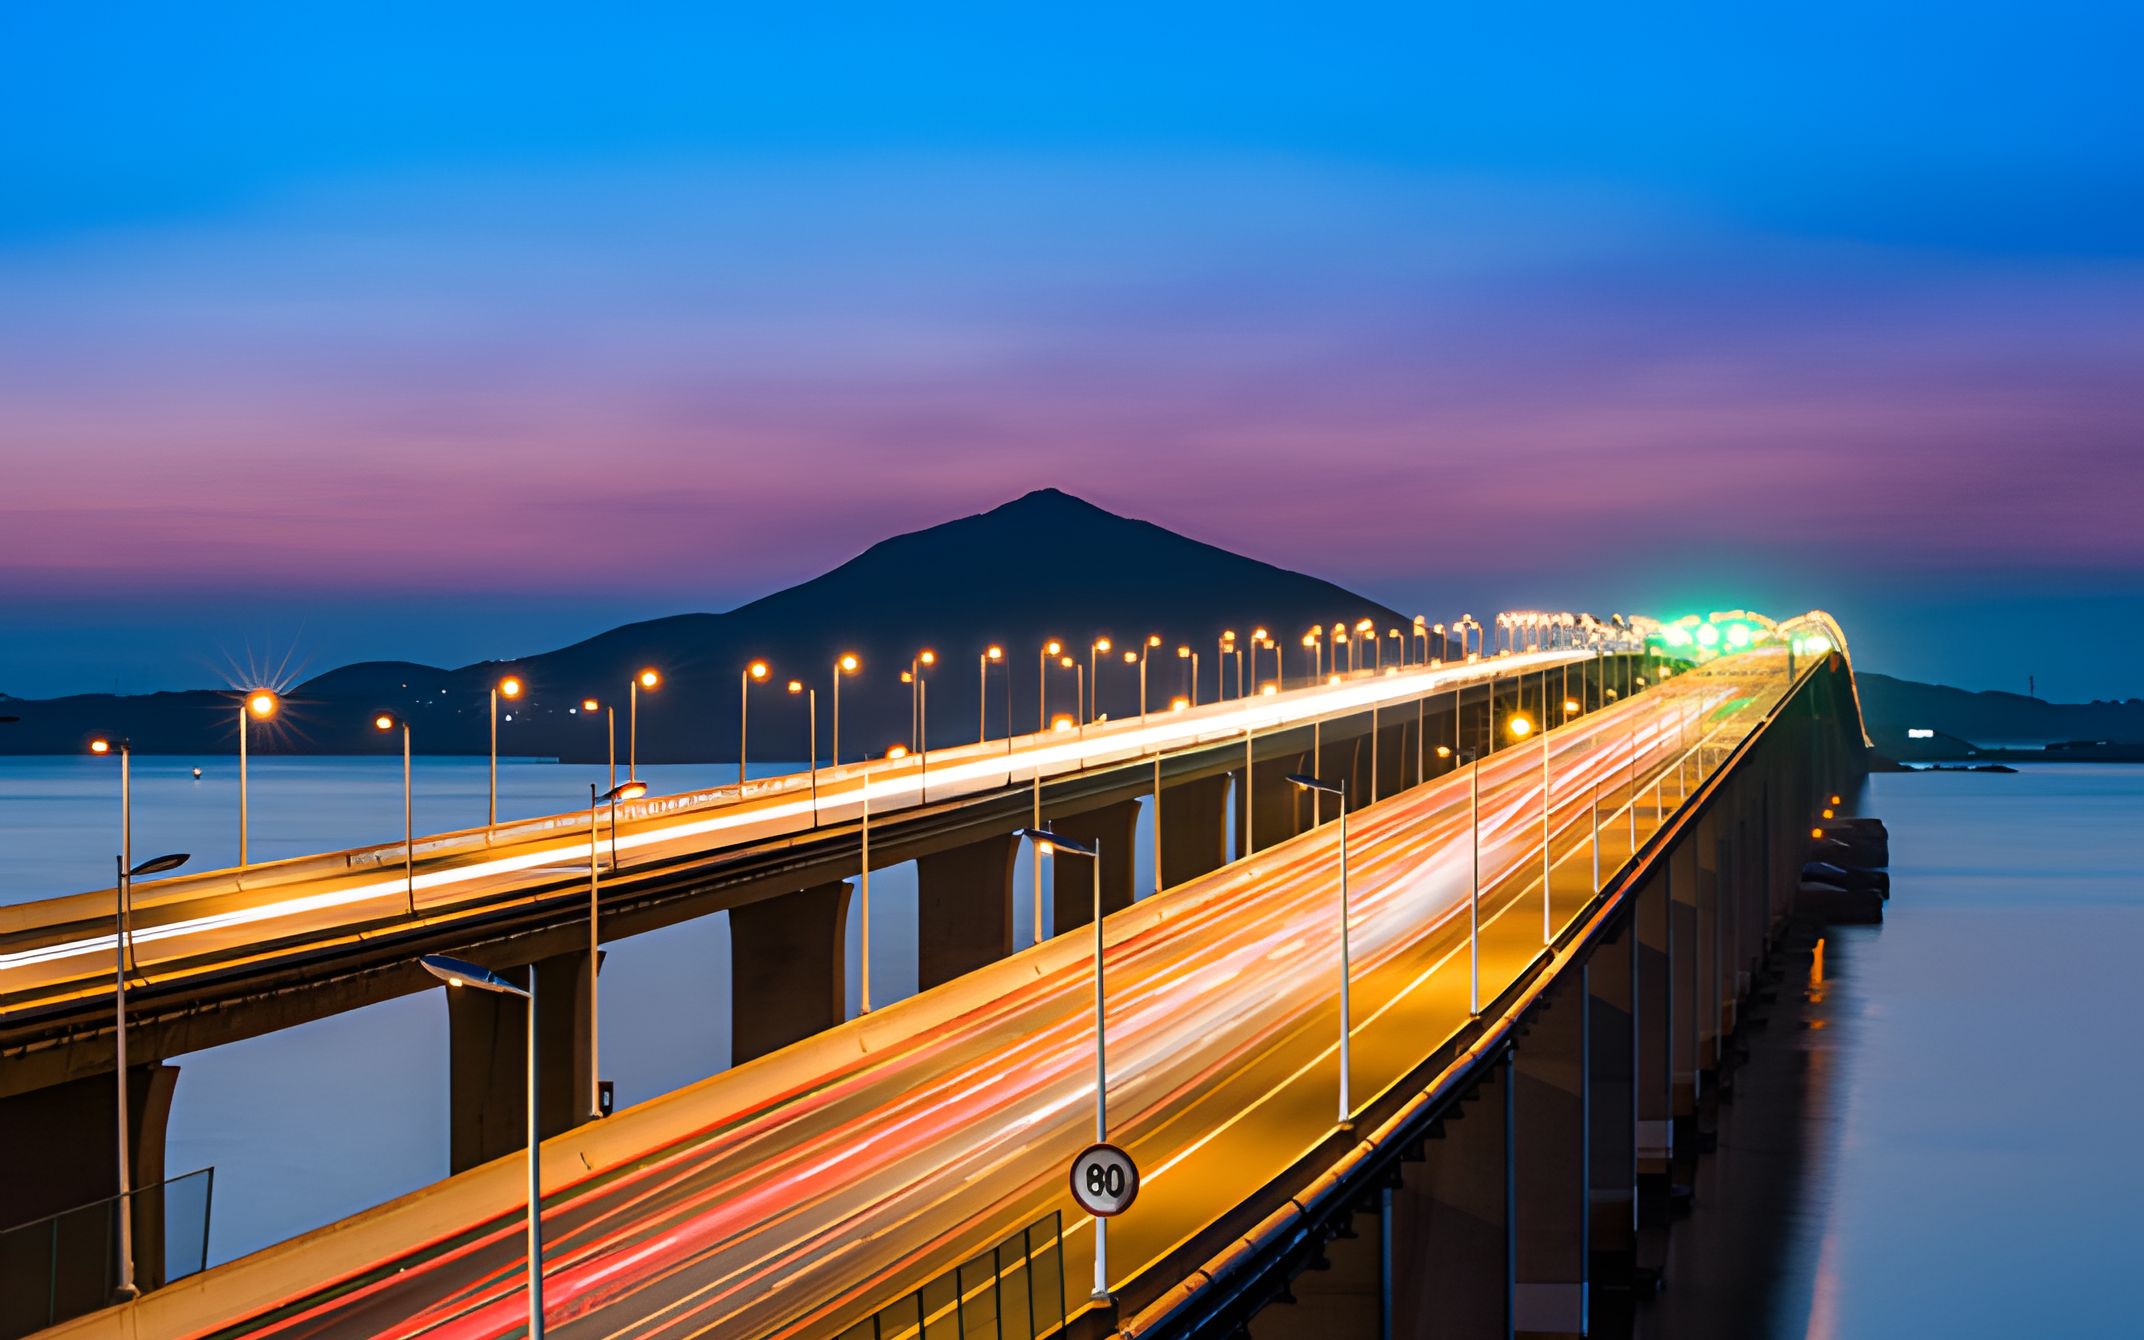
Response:
[{"label": "large dark peaked hill behind the left row of street lamps", "polygon": [[[928,675],[930,742],[976,738],[978,654],[1006,650],[1010,669],[993,669],[991,733],[1006,729],[1010,675],[1014,729],[1036,725],[1036,660],[1059,637],[1085,665],[1098,637],[1136,647],[1147,632],[1164,645],[1149,662],[1149,701],[1183,693],[1188,660],[1201,652],[1201,697],[1214,695],[1216,639],[1267,624],[1301,675],[1297,639],[1310,624],[1374,620],[1409,624],[1398,611],[1329,581],[1289,572],[1147,521],[1117,517],[1057,489],[1038,489],[976,517],[961,517],[881,540],[847,564],[731,609],[680,613],[598,632],[585,641],[461,669],[399,660],[345,665],[287,690],[285,712],[255,727],[255,753],[382,753],[394,748],[369,720],[379,710],[407,714],[412,742],[429,755],[478,755],[487,748],[487,688],[506,673],[527,693],[502,703],[500,750],[508,755],[600,759],[602,727],[572,712],[583,697],[617,703],[620,757],[626,748],[626,682],[658,667],[665,684],[641,695],[641,757],[650,761],[735,759],[738,678],[753,660],[772,667],[753,693],[750,753],[759,759],[804,755],[804,701],[783,693],[789,678],[819,690],[821,753],[832,727],[830,673],[855,652],[862,673],[840,688],[843,755],[858,757],[909,738],[909,690],[900,671],[933,647]],[[1391,647],[1387,647],[1387,654]],[[1261,654],[1271,678],[1271,654]],[[1051,710],[1070,710],[1072,671],[1051,667]],[[1121,660],[1100,667],[1102,710],[1136,712],[1138,673]],[[1233,686],[1233,671],[1231,671]],[[0,714],[0,753],[73,753],[96,733],[126,735],[139,753],[214,755],[236,750],[236,695],[229,690],[139,697],[79,695],[9,699]]]}]

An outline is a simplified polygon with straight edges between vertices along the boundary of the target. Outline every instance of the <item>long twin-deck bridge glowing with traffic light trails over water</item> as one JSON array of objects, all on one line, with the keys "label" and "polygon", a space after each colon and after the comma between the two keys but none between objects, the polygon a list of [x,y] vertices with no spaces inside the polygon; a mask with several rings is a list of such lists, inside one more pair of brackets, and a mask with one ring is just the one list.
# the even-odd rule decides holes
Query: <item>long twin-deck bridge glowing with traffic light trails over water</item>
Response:
[{"label": "long twin-deck bridge glowing with traffic light trails over water", "polygon": [[[1518,738],[1516,714],[1554,725]],[[1093,1100],[1091,946],[1066,935],[1089,873],[1053,862],[1055,935],[1010,943],[1012,830],[1040,813],[1104,855],[1113,1132],[1145,1171],[1111,1297],[1074,1286],[1072,1327],[1578,1334],[1591,1284],[1644,1269],[1640,1201],[1694,1158],[1812,815],[1859,750],[1844,641],[1810,617],[1702,665],[1550,647],[643,804],[615,834],[602,933],[729,907],[740,1029],[755,1008],[778,1023],[740,1044],[755,1059],[605,1121],[572,1126],[570,1085],[545,1096],[551,1325],[915,1334],[913,1291],[1048,1216],[1061,1276],[1087,1278],[1093,1224],[1063,1171]],[[1301,772],[1346,783],[1346,825],[1310,813]],[[873,864],[920,860],[924,991],[840,1021],[866,785],[888,815]],[[1143,791],[1168,888],[1132,903]],[[583,815],[444,838],[420,879],[343,853],[251,888],[255,870],[169,881],[144,907],[163,930],[144,943],[148,1055],[422,988],[407,963],[431,948],[585,982],[587,870],[566,860],[587,849]],[[96,1063],[111,999],[92,973],[114,941],[84,898],[6,926],[9,1068]],[[467,995],[450,995],[465,1171],[71,1334],[512,1334],[525,1196],[500,1156],[521,1096],[497,1061],[519,1025]],[[560,995],[538,1046],[585,1091],[585,999]]]}]

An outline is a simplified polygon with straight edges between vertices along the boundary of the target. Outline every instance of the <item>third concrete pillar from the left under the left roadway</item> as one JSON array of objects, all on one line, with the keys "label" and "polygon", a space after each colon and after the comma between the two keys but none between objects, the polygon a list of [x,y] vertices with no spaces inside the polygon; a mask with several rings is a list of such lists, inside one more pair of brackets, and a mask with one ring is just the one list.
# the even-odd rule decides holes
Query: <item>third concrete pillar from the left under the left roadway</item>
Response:
[{"label": "third concrete pillar from the left under the left roadway", "polygon": [[849,881],[729,909],[729,1063],[823,1033],[847,1014]]}]

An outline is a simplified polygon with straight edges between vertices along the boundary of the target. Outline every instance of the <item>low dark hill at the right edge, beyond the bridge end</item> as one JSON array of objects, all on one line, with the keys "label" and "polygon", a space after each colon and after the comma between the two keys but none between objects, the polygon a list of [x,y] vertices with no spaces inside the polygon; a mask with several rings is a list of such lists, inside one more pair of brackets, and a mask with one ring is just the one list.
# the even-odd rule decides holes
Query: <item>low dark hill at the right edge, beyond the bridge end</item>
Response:
[{"label": "low dark hill at the right edge, beyond the bridge end", "polygon": [[[2144,699],[2050,703],[2020,693],[1970,693],[1861,671],[1861,714],[1878,753],[1893,759],[1960,757],[1960,744],[2144,742]],[[1908,731],[1936,731],[1912,740]]]}]

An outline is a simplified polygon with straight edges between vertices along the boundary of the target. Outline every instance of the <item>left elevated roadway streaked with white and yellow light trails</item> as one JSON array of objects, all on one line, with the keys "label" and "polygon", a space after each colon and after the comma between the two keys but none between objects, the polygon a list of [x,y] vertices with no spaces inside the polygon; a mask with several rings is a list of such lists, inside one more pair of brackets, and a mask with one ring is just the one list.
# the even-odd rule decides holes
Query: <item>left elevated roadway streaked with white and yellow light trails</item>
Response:
[{"label": "left elevated roadway streaked with white and yellow light trails", "polygon": [[[866,789],[875,817],[924,802],[984,795],[1033,780],[1128,763],[1156,750],[1177,750],[1231,735],[1276,731],[1379,703],[1406,703],[1548,665],[1572,665],[1587,652],[1537,652],[1357,675],[1338,684],[1280,695],[1229,699],[1183,712],[1096,723],[1083,731],[1051,731],[1010,742],[933,750],[922,759],[879,761],[757,780],[684,798],[647,798],[620,806],[613,834],[598,817],[602,873],[611,858],[626,868],[678,855],[804,834],[853,823]],[[414,879],[401,870],[401,845],[330,853],[294,862],[214,870],[135,885],[131,961],[144,976],[169,982],[206,967],[229,967],[292,948],[324,948],[394,924],[452,918],[547,896],[572,900],[585,890],[590,817],[553,815],[521,823],[422,838]],[[414,909],[414,913],[412,913]],[[75,894],[0,909],[0,1010],[26,1010],[109,995],[114,894]]]}]

